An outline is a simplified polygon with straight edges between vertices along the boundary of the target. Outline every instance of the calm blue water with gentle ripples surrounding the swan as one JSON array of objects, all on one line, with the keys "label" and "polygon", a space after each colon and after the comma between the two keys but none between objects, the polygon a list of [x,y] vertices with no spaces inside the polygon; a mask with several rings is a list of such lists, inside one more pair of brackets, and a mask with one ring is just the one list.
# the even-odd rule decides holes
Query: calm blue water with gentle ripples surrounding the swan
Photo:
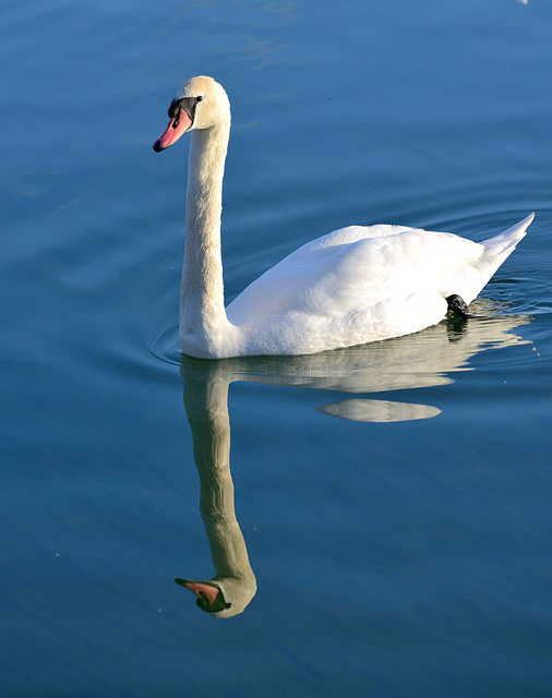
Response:
[{"label": "calm blue water with gentle ripples surrounding the swan", "polygon": [[[2,698],[550,695],[551,22],[4,3]],[[181,361],[187,146],[151,146],[199,73],[232,103],[229,300],[347,224],[481,240],[536,210],[491,318]],[[214,619],[173,579],[213,577],[225,540],[257,590]]]}]

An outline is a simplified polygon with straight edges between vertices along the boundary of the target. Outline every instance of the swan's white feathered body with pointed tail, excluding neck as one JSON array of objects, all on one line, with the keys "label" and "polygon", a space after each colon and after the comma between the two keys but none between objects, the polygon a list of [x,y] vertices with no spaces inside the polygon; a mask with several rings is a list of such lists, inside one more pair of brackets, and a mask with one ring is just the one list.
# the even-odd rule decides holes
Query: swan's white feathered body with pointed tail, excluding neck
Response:
[{"label": "swan's white feathered body with pointed tail, excluding neck", "polygon": [[410,334],[440,322],[446,298],[471,302],[525,236],[529,216],[472,242],[405,226],[350,226],[309,242],[227,309],[262,353],[311,353]]}]

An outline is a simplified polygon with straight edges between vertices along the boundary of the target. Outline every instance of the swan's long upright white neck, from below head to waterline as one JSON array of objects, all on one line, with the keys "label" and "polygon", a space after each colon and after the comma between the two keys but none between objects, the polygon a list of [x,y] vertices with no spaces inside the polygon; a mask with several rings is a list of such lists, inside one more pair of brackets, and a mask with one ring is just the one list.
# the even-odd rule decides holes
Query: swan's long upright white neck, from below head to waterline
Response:
[{"label": "swan's long upright white neck, from below head to waterline", "polygon": [[[188,172],[180,339],[184,352],[217,356],[228,330],[220,252],[223,177],[230,121],[192,131]],[[190,349],[190,351],[188,351]]]}]

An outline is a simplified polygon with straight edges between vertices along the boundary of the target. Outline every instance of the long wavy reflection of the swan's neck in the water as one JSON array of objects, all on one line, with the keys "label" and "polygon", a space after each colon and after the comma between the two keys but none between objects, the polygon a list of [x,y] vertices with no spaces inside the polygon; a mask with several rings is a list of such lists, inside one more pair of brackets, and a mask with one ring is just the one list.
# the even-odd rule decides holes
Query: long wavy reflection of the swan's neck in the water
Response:
[{"label": "long wavy reflection of the swan's neck in the water", "polygon": [[184,405],[200,476],[200,510],[216,571],[212,581],[228,606],[217,615],[230,616],[248,605],[256,581],[235,513],[227,400],[226,381],[184,381]]}]

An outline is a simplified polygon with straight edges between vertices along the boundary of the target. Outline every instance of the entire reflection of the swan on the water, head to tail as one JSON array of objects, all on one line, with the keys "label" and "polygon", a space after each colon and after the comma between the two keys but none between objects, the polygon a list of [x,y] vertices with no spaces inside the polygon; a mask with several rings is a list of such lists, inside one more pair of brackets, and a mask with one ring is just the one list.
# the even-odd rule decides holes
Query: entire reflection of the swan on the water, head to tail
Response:
[{"label": "entire reflection of the swan on the water, head to tail", "polygon": [[[472,305],[476,309],[476,305]],[[200,510],[211,546],[215,577],[176,579],[193,591],[197,605],[217,617],[241,613],[256,592],[245,541],[236,518],[230,474],[230,383],[249,381],[298,388],[370,394],[441,386],[449,373],[466,371],[485,349],[529,344],[512,330],[526,316],[448,320],[417,335],[362,347],[302,357],[254,357],[205,361],[182,357],[184,407],[200,476]],[[396,422],[428,419],[436,407],[370,398],[348,398],[316,408],[341,419]]]}]

